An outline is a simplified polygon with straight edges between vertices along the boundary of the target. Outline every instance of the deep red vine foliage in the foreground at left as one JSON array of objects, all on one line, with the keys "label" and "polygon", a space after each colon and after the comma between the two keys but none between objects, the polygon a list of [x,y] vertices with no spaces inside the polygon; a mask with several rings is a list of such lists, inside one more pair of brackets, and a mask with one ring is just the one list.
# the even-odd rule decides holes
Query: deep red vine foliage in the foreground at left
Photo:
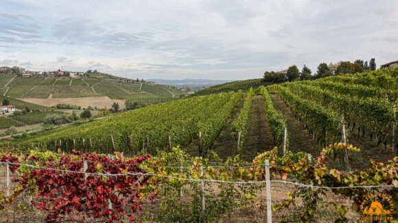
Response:
[{"label": "deep red vine foliage in the foreground at left", "polygon": [[[39,161],[34,155],[25,155],[21,161],[16,156],[8,155],[2,157],[1,161],[34,161],[35,166],[42,167],[21,170],[22,176],[12,181],[19,183],[18,192],[25,190],[33,194],[32,205],[48,213],[46,222],[58,222],[65,218],[79,222],[91,222],[93,219],[113,222],[126,220],[126,216],[133,222],[134,214],[141,211],[143,202],[150,202],[154,197],[152,186],[156,182],[149,176],[126,173],[144,173],[139,164],[149,158],[150,155],[145,155],[125,159],[119,154],[116,159],[109,159],[103,155],[86,155],[74,151],[56,161],[51,158]],[[84,159],[88,161],[87,177],[81,173]],[[10,170],[15,172],[18,167],[19,165],[10,165]],[[94,173],[121,175],[104,176]]]}]

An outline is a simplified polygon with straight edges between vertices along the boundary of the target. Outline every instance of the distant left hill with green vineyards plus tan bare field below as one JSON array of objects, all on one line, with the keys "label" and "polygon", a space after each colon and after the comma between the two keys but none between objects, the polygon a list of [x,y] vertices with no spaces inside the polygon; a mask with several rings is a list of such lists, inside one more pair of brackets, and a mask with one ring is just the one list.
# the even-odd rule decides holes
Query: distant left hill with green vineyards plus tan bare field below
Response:
[{"label": "distant left hill with green vineyards plus tan bare field below", "polygon": [[173,86],[132,82],[130,79],[95,73],[76,79],[0,75],[0,94],[45,107],[65,103],[102,108],[113,103],[123,107],[126,99],[150,103],[172,101],[187,92]]}]

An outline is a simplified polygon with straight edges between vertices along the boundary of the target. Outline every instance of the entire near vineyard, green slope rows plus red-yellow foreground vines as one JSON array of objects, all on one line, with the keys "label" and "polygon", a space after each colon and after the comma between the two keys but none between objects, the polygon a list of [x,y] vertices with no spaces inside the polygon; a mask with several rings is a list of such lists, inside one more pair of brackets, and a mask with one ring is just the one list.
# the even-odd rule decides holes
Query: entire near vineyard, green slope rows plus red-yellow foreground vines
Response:
[{"label": "entire near vineyard, green slope rows plus red-yellow foreground vines", "polygon": [[13,183],[0,209],[32,205],[47,222],[356,222],[377,196],[397,219],[397,86],[398,68],[239,81],[2,142]]}]

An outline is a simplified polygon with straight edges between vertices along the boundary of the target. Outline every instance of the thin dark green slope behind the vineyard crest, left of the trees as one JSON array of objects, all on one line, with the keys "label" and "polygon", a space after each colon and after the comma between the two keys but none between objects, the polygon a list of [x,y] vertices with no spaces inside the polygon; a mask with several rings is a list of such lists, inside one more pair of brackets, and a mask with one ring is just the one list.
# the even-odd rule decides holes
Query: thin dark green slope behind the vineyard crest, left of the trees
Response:
[{"label": "thin dark green slope behind the vineyard crest, left of the trees", "polygon": [[268,83],[261,82],[262,79],[248,79],[244,81],[232,81],[228,83],[222,83],[217,86],[212,86],[210,88],[206,88],[195,94],[191,94],[190,96],[202,96],[207,94],[215,94],[220,92],[230,92],[237,90],[248,90],[249,88],[258,88],[259,86],[265,86]]}]

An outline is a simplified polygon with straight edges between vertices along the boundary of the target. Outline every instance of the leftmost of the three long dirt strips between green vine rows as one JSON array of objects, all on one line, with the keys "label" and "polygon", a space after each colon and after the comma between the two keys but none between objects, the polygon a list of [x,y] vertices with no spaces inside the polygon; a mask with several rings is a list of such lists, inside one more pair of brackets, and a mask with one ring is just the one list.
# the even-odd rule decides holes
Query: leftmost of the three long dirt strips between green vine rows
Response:
[{"label": "leftmost of the three long dirt strips between green vine rows", "polygon": [[233,139],[231,137],[231,124],[239,114],[239,110],[242,109],[243,104],[244,104],[243,99],[242,101],[239,101],[239,103],[237,103],[233,111],[233,114],[226,122],[224,129],[222,129],[220,135],[218,135],[213,146],[211,146],[211,149],[214,150],[215,153],[217,153],[222,159],[231,157],[231,155],[234,155],[235,153],[235,146],[233,144]]}]

